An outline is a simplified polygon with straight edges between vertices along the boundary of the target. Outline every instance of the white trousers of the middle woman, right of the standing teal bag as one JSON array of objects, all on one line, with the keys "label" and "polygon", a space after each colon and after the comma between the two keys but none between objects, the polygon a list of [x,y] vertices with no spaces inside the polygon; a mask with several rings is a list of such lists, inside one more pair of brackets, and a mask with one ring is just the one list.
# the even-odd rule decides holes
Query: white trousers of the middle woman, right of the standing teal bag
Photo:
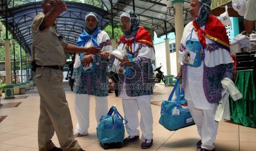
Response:
[{"label": "white trousers of the middle woman, right of the standing teal bag", "polygon": [[[153,118],[150,105],[150,96],[141,96],[136,99],[123,99],[124,118],[128,121],[126,131],[129,136],[139,136],[138,127],[142,132],[142,140],[153,138]],[[138,117],[140,111],[140,123]]]}]

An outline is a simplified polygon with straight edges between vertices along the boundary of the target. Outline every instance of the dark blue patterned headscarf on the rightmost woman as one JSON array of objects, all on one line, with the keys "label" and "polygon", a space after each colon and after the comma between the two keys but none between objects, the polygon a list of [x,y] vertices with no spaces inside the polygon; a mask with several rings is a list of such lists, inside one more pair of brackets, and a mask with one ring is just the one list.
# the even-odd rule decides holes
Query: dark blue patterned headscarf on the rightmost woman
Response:
[{"label": "dark blue patterned headscarf on the rightmost woman", "polygon": [[211,0],[198,0],[202,5],[195,20],[199,26],[204,26],[209,18],[211,11]]}]

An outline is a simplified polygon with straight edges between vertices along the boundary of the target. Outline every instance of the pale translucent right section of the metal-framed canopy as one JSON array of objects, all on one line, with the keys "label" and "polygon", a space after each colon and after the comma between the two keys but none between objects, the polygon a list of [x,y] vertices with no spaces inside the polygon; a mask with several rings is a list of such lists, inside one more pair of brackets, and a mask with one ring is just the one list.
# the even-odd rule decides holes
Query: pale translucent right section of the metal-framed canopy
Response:
[{"label": "pale translucent right section of the metal-framed canopy", "polygon": [[[169,0],[171,1],[171,0]],[[167,0],[102,0],[106,5],[107,18],[121,21],[119,16],[126,10],[135,10],[141,26],[147,26],[154,30],[157,36],[163,36],[175,32],[175,20],[173,11],[166,7]],[[183,20],[187,25],[192,17],[188,11],[190,0],[183,3]],[[171,12],[171,14],[170,14]]]}]

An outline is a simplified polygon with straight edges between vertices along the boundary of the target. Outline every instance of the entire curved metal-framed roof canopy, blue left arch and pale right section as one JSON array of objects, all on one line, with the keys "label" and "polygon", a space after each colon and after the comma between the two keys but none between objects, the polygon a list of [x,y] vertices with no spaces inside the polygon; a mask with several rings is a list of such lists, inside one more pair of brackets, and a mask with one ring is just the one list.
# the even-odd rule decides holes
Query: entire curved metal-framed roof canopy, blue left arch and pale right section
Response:
[{"label": "entire curved metal-framed roof canopy, blue left arch and pale right section", "polygon": [[[7,0],[10,1],[10,0]],[[111,21],[120,21],[119,16],[126,10],[135,10],[141,26],[154,30],[157,36],[175,32],[173,11],[166,8],[167,0],[102,0],[107,10],[92,5],[66,2],[68,9],[59,15],[57,28],[68,43],[75,44],[80,33],[84,30],[85,14],[94,11],[99,15],[99,27],[104,28]],[[188,11],[190,0],[184,0],[183,20],[186,25],[191,20]],[[2,8],[4,5],[2,4]],[[0,16],[6,19],[5,11],[0,10]],[[28,3],[18,7],[9,8],[8,29],[14,35],[21,47],[30,54],[32,36],[31,23],[33,18],[42,12],[41,2]],[[6,21],[4,21],[6,22]],[[5,24],[5,23],[3,23]]]}]

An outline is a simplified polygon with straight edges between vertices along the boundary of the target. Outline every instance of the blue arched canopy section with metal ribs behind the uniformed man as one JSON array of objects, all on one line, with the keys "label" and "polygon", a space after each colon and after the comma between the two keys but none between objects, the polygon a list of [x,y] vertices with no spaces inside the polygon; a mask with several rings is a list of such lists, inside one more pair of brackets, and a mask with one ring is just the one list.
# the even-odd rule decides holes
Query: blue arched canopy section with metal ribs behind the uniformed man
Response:
[{"label": "blue arched canopy section with metal ribs behind the uniformed man", "polygon": [[[14,35],[14,38],[26,53],[30,54],[32,45],[31,24],[34,17],[42,13],[42,2],[28,3],[18,7],[9,8],[7,18],[8,30]],[[107,11],[92,5],[66,2],[68,9],[57,18],[57,29],[64,36],[68,43],[76,44],[78,37],[85,28],[85,15],[94,11],[99,15],[99,27],[103,28],[110,20],[105,19]],[[5,24],[6,21],[3,22]]]}]

